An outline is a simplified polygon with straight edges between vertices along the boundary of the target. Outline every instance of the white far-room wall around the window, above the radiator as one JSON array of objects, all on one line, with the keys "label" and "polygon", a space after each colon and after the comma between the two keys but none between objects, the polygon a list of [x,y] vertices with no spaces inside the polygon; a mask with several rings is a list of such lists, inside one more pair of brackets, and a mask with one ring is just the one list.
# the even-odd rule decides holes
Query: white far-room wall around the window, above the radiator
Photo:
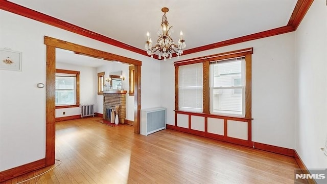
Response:
[{"label": "white far-room wall around the window, above the radiator", "polygon": [[[78,63],[78,61],[76,62]],[[80,104],[82,105],[95,104],[95,108],[97,108],[96,94],[98,88],[97,86],[98,77],[96,73],[96,68],[61,63],[61,62],[56,62],[56,68],[81,72],[80,73]],[[65,112],[65,114],[63,114],[63,112]],[[79,114],[81,114],[79,107],[56,109],[56,118],[74,116]]]}]

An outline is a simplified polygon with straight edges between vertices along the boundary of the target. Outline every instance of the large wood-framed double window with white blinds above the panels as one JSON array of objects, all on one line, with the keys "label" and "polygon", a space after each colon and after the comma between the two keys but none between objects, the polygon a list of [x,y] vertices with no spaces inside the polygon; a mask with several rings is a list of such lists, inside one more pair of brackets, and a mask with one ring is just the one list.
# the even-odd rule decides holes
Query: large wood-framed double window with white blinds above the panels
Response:
[{"label": "large wood-framed double window with white blinds above the panels", "polygon": [[174,62],[175,110],[251,118],[252,53],[247,48]]}]

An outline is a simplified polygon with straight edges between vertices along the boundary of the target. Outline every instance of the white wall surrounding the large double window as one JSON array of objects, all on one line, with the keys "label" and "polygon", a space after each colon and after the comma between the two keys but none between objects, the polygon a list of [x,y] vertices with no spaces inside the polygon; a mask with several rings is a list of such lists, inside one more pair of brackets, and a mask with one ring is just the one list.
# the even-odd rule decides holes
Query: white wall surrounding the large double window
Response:
[{"label": "white wall surrounding the large double window", "polygon": [[[179,60],[253,47],[252,141],[294,148],[294,32],[180,57]],[[167,124],[175,121],[174,61],[161,61],[161,105]]]}]

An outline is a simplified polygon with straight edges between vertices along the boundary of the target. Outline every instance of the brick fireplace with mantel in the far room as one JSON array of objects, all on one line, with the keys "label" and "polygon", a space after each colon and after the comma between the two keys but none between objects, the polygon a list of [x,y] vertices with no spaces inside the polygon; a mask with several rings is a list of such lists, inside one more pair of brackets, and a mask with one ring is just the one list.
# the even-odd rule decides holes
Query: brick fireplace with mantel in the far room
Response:
[{"label": "brick fireplace with mantel in the far room", "polygon": [[118,119],[120,124],[125,124],[126,119],[126,90],[103,91],[103,119],[110,121],[111,110],[119,105]]}]

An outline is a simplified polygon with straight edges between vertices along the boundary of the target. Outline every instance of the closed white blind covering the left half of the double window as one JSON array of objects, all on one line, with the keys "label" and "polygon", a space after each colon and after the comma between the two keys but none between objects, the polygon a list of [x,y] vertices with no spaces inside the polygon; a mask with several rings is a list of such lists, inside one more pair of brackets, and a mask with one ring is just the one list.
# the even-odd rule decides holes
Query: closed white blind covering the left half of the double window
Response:
[{"label": "closed white blind covering the left half of the double window", "polygon": [[178,110],[203,112],[203,64],[178,68]]}]

